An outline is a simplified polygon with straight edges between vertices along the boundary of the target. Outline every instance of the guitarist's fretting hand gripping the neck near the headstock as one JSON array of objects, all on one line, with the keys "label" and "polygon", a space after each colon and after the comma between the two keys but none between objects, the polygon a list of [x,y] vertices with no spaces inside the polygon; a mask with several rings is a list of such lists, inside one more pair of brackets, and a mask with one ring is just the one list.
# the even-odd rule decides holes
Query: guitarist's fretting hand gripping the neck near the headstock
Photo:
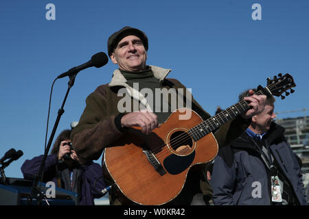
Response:
[{"label": "guitarist's fretting hand gripping the neck near the headstock", "polygon": [[244,100],[247,101],[248,105],[251,107],[250,110],[242,114],[242,118],[246,119],[262,112],[266,102],[266,95],[254,94],[253,90],[249,90],[249,94],[251,96],[244,97]]}]

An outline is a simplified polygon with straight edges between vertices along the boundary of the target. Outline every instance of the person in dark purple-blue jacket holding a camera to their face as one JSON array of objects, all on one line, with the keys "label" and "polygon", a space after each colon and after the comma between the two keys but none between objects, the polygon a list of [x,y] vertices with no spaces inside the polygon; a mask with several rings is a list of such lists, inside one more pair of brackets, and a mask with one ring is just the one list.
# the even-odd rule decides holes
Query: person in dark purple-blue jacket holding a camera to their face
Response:
[{"label": "person in dark purple-blue jacket holding a camera to their face", "polygon": [[[56,186],[78,193],[78,205],[94,205],[93,198],[102,197],[104,181],[100,164],[80,164],[69,140],[71,130],[66,129],[56,139],[52,152],[45,161],[43,182],[54,181]],[[43,155],[27,159],[21,171],[25,179],[34,179],[43,160]]]}]

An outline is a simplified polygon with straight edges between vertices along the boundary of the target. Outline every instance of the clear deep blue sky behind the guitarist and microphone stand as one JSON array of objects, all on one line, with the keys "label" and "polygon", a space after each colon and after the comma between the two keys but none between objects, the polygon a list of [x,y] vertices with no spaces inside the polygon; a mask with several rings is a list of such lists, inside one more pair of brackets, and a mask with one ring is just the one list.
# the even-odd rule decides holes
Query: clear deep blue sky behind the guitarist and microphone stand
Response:
[{"label": "clear deep blue sky behind the guitarist and microphone stand", "polygon": [[[45,18],[47,3],[56,6],[55,21]],[[260,21],[251,18],[254,3],[262,6]],[[293,75],[297,87],[284,101],[277,99],[275,111],[308,108],[308,8],[306,0],[0,1],[0,156],[11,148],[24,153],[6,176],[22,177],[25,159],[44,152],[52,81],[106,52],[108,36],[126,25],[148,35],[148,64],[172,68],[170,77],[192,88],[210,114],[280,72]],[[108,83],[115,68],[108,62],[79,73],[56,136],[80,118],[88,94]],[[62,78],[54,86],[48,135],[67,82]]]}]

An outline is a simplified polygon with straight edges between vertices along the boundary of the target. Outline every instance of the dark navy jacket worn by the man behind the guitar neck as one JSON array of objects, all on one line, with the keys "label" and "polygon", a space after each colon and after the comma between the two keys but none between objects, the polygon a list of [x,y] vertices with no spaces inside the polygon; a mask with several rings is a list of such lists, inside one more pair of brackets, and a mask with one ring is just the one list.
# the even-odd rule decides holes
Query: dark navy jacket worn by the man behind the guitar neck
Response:
[{"label": "dark navy jacket worn by the man behind the guitar neck", "polygon": [[[301,169],[283,134],[284,128],[272,123],[263,138],[271,150],[273,163],[288,181],[297,202],[307,205]],[[249,138],[243,133],[219,150],[211,175],[215,205],[271,205],[270,171]]]}]

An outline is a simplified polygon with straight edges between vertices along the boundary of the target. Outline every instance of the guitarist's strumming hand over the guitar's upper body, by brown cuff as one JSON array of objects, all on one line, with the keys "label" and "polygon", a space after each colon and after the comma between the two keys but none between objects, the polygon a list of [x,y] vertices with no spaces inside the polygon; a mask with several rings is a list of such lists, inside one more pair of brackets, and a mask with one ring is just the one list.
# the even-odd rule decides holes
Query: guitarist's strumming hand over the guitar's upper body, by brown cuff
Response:
[{"label": "guitarist's strumming hand over the guitar's upper body, by brown cuff", "polygon": [[148,135],[153,129],[159,127],[157,115],[148,110],[131,112],[122,116],[122,127],[141,127],[142,133]]}]

